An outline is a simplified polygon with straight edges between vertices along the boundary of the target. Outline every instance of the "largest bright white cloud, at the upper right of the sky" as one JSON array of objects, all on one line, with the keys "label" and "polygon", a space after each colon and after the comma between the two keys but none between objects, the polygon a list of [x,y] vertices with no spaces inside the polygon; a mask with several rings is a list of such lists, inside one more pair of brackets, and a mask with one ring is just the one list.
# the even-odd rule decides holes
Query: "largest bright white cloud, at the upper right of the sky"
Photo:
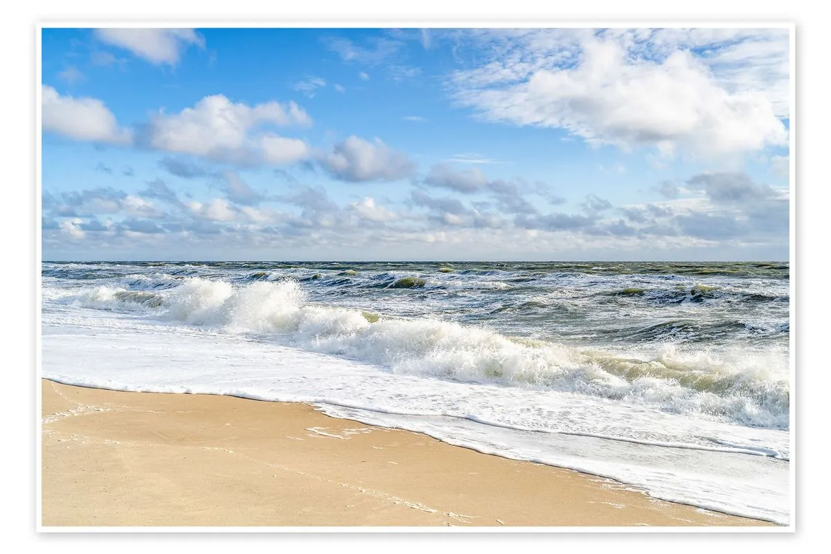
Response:
[{"label": "largest bright white cloud, at the upper right of the sky", "polygon": [[770,97],[725,86],[701,56],[677,45],[655,52],[622,33],[578,31],[500,34],[509,46],[452,76],[455,101],[484,120],[560,128],[625,151],[653,147],[665,157],[787,145]]}]

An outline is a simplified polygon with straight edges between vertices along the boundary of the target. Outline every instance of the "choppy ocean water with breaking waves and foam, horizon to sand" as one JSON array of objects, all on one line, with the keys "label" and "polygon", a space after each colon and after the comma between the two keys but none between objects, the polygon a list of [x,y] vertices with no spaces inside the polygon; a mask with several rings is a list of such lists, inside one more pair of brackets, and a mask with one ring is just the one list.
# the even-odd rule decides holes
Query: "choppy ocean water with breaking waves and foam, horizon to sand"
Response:
[{"label": "choppy ocean water with breaking waves and foam, horizon to sand", "polygon": [[44,262],[42,376],[308,402],[788,524],[789,300],[781,262]]}]

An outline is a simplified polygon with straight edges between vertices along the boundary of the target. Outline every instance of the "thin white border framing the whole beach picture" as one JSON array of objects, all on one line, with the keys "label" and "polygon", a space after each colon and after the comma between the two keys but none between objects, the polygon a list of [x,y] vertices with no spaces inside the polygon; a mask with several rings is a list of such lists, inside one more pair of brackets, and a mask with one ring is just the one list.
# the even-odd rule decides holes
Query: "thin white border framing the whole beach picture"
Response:
[{"label": "thin white border framing the whole beach picture", "polygon": [[[789,462],[789,486],[790,486],[790,517],[789,525],[776,527],[54,527],[42,525],[42,433],[40,432],[40,415],[42,409],[41,399],[41,351],[42,351],[42,324],[41,324],[41,293],[42,293],[42,182],[41,182],[41,168],[42,168],[42,125],[41,125],[41,94],[42,94],[42,30],[49,28],[96,28],[96,27],[160,27],[160,28],[176,28],[176,27],[194,27],[194,28],[637,28],[637,27],[652,27],[652,28],[782,28],[789,30],[789,70],[790,70],[790,106],[789,106],[789,267],[790,267],[790,324],[789,324],[789,364],[790,364],[790,433],[789,439],[791,444],[791,454]],[[796,345],[794,342],[796,329],[796,248],[795,248],[795,232],[796,232],[796,196],[795,196],[795,143],[796,143],[796,26],[794,22],[774,21],[754,21],[754,22],[706,22],[706,21],[692,21],[692,22],[667,22],[667,21],[618,21],[618,22],[597,22],[591,20],[557,22],[546,24],[543,22],[534,22],[526,19],[518,19],[516,21],[506,20],[504,17],[499,17],[499,21],[491,21],[488,19],[479,19],[458,23],[438,21],[435,19],[420,19],[414,21],[401,21],[396,19],[378,19],[360,21],[350,20],[313,20],[308,18],[298,19],[281,19],[279,22],[263,22],[262,20],[248,20],[248,21],[234,21],[232,19],[223,18],[221,22],[211,22],[209,20],[196,20],[188,22],[169,22],[169,21],[155,21],[153,19],[145,19],[140,22],[116,22],[114,20],[102,19],[98,21],[90,20],[71,20],[61,18],[56,21],[50,21],[45,18],[37,22],[35,27],[35,112],[36,112],[36,189],[35,189],[35,210],[36,210],[36,290],[35,290],[35,323],[36,323],[36,353],[35,363],[37,366],[37,375],[35,381],[35,404],[36,404],[36,424],[34,432],[36,438],[36,530],[42,533],[87,533],[87,532],[153,532],[153,533],[193,533],[193,532],[291,532],[291,533],[387,533],[387,532],[432,532],[432,533],[515,533],[515,532],[531,532],[531,533],[548,533],[548,532],[578,532],[578,533],[607,533],[607,532],[622,532],[622,533],[672,533],[672,532],[692,532],[692,533],[789,533],[796,532],[797,509],[796,509]]]}]

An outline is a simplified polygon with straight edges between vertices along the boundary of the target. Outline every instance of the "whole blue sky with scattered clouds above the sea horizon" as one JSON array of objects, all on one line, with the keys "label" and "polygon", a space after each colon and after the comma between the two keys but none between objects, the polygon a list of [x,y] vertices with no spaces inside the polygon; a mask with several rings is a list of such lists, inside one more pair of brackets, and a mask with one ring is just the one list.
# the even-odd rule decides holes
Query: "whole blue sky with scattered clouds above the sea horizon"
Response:
[{"label": "whole blue sky with scattered clouds above the sea horizon", "polygon": [[787,260],[787,29],[42,30],[44,260]]}]

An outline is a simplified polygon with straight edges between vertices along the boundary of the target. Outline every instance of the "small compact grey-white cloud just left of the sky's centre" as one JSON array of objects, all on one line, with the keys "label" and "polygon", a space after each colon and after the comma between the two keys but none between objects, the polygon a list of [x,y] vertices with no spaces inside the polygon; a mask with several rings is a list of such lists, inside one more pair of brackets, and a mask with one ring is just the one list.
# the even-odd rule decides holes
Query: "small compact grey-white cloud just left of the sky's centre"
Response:
[{"label": "small compact grey-white cloud just left of the sky's centre", "polygon": [[392,150],[380,139],[363,140],[354,135],[321,154],[318,163],[332,177],[343,181],[395,181],[409,177],[415,165],[406,154]]}]

